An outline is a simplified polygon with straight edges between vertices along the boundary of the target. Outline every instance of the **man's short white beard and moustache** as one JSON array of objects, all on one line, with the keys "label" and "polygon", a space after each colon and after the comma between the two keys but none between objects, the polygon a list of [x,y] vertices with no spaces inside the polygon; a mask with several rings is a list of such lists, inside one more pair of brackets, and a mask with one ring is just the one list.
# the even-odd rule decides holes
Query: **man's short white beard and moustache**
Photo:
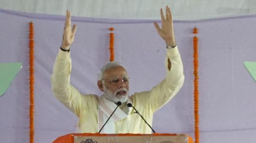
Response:
[{"label": "man's short white beard and moustache", "polygon": [[[103,90],[104,90],[104,95],[103,96],[106,99],[108,99],[109,101],[112,101],[114,103],[117,103],[118,101],[120,101],[121,103],[125,103],[128,99],[129,92],[126,88],[120,88],[120,89],[116,90],[113,94],[110,90],[108,90],[106,88],[105,85],[103,85]],[[122,95],[122,96],[117,95],[117,93],[121,90],[125,90],[126,95]]]}]

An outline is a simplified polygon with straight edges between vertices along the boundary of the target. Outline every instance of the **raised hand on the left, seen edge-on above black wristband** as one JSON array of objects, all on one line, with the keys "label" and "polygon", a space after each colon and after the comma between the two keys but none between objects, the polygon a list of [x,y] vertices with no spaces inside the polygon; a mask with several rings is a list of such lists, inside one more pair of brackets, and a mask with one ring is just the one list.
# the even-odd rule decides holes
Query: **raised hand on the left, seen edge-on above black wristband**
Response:
[{"label": "raised hand on the left, seen edge-on above black wristband", "polygon": [[71,29],[71,15],[70,11],[67,11],[61,48],[68,50],[70,48],[70,45],[74,42],[75,34],[76,25],[73,25]]}]

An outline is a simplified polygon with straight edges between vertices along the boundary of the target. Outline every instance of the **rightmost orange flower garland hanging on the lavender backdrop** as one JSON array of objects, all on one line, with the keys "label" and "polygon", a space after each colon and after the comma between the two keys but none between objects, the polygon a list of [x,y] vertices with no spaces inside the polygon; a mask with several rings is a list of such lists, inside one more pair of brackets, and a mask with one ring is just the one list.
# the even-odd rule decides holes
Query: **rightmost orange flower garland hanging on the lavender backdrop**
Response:
[{"label": "rightmost orange flower garland hanging on the lavender backdrop", "polygon": [[[193,34],[197,34],[197,28],[193,29]],[[195,116],[195,143],[199,143],[199,90],[198,90],[198,38],[194,36],[194,116]]]}]

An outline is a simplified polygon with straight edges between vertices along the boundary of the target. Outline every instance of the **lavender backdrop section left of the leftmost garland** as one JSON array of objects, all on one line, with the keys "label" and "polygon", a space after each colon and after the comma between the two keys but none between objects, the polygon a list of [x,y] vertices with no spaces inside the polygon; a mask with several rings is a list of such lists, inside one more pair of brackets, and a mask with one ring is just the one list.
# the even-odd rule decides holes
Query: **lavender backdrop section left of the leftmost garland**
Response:
[{"label": "lavender backdrop section left of the leftmost garland", "polygon": [[[22,69],[0,99],[0,142],[29,141],[29,19],[0,13],[0,62],[22,62]],[[1,71],[0,71],[1,72]]]}]

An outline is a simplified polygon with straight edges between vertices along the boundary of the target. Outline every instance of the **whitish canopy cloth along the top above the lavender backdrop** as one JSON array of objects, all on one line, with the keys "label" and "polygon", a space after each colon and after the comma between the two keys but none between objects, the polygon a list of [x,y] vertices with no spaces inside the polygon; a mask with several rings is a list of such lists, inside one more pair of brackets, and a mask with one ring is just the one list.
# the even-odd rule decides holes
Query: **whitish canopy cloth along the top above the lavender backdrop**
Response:
[{"label": "whitish canopy cloth along the top above the lavender backdrop", "polygon": [[109,19],[160,19],[168,5],[174,20],[256,15],[256,0],[0,0],[0,8],[28,13]]}]

